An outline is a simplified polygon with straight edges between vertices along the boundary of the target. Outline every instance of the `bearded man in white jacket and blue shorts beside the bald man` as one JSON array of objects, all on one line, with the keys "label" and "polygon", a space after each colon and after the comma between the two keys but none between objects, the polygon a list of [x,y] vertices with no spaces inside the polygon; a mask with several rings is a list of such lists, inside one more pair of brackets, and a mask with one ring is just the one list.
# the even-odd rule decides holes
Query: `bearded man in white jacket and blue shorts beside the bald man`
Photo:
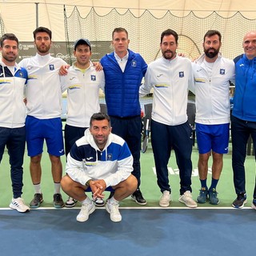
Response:
[{"label": "bearded man in white jacket and blue shorts beside the bald man", "polygon": [[[198,173],[201,190],[197,202],[218,205],[216,186],[228,152],[230,138],[230,81],[234,81],[234,62],[223,58],[219,50],[222,35],[209,30],[202,43],[204,54],[193,65],[196,95],[196,136],[198,142]],[[210,188],[206,184],[208,162],[213,158]]]}]

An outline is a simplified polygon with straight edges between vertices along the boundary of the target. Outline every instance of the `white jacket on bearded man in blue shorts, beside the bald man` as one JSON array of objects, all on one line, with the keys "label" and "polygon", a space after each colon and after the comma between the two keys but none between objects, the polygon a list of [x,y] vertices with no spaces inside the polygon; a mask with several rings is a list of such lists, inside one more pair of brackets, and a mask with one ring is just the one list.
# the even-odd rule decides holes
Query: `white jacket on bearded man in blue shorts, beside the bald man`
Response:
[{"label": "white jacket on bearded man in blue shorts, beside the bald man", "polygon": [[230,81],[234,82],[234,62],[218,54],[212,74],[203,65],[205,54],[192,63],[196,102],[195,122],[218,125],[230,122]]}]

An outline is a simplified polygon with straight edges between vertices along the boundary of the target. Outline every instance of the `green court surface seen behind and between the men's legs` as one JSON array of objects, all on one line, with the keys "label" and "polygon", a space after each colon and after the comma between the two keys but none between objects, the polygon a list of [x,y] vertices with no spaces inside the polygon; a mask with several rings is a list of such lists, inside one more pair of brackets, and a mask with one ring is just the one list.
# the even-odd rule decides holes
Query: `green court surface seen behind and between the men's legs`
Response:
[{"label": "green court surface seen behind and between the men's legs", "polygon": [[[231,149],[231,146],[230,146]],[[65,174],[65,156],[62,157],[63,163],[63,175]],[[198,150],[194,146],[192,154],[193,162],[193,176],[192,176],[192,189],[193,189],[193,198],[196,199],[198,196],[198,190],[200,189],[200,182],[198,179]],[[30,158],[25,155],[24,158],[24,176],[23,176],[23,194],[25,202],[29,204],[30,200],[34,196],[34,188],[30,179],[30,170],[29,170]],[[211,164],[211,162],[210,162]],[[154,173],[154,158],[152,149],[149,148],[146,150],[146,153],[141,154],[141,166],[142,166],[142,185],[141,190],[146,198],[147,205],[142,207],[158,207],[158,200],[160,198],[160,190],[156,183],[156,175]],[[178,202],[179,197],[179,176],[178,168],[175,162],[174,152],[172,152],[170,162],[169,162],[169,178],[170,185],[172,188],[172,199],[173,201],[170,204],[170,207],[185,207],[184,204]],[[207,185],[210,186],[211,174],[209,170],[208,182]],[[254,190],[255,182],[255,159],[254,156],[247,156],[246,158],[246,190],[248,202],[246,206],[250,206],[252,201],[252,194]],[[224,166],[222,170],[222,176],[218,183],[218,198],[220,198],[220,204],[218,206],[211,206],[208,202],[198,207],[231,207],[231,203],[235,198],[234,185],[233,185],[233,173],[231,167],[231,153],[224,155]],[[52,200],[54,194],[54,183],[52,181],[51,171],[50,171],[50,160],[46,149],[44,150],[42,156],[42,194],[44,202],[42,207],[52,207]],[[106,192],[106,198],[108,197],[109,192]],[[67,195],[62,192],[62,197],[66,200]],[[2,158],[2,163],[0,165],[0,207],[6,208],[10,204],[12,198],[11,183],[10,183],[10,166],[8,154],[5,151],[5,154]],[[78,204],[79,206],[79,204]],[[120,204],[122,207],[139,207],[130,197],[123,200]]]}]

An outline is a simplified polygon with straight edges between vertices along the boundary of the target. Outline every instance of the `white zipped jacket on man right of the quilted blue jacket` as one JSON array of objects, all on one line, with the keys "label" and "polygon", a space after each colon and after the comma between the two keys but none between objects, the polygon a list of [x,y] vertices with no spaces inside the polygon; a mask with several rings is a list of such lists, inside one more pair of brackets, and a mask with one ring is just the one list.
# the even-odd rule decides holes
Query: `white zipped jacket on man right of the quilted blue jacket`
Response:
[{"label": "white zipped jacket on man right of the quilted blue jacket", "polygon": [[167,60],[162,57],[148,66],[139,95],[149,94],[153,87],[152,119],[167,126],[178,126],[187,121],[187,95],[193,86],[194,77],[188,58],[177,56]]}]

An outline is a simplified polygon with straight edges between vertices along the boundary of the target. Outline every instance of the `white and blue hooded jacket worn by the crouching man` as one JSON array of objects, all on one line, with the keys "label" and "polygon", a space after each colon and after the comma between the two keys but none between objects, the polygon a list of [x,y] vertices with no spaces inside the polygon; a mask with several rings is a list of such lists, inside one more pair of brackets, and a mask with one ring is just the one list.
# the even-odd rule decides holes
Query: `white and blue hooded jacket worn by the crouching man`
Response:
[{"label": "white and blue hooded jacket worn by the crouching man", "polygon": [[99,150],[90,129],[78,139],[70,150],[66,174],[75,182],[85,185],[89,179],[103,179],[106,187],[126,180],[133,171],[133,157],[126,142],[110,134],[104,150]]}]

